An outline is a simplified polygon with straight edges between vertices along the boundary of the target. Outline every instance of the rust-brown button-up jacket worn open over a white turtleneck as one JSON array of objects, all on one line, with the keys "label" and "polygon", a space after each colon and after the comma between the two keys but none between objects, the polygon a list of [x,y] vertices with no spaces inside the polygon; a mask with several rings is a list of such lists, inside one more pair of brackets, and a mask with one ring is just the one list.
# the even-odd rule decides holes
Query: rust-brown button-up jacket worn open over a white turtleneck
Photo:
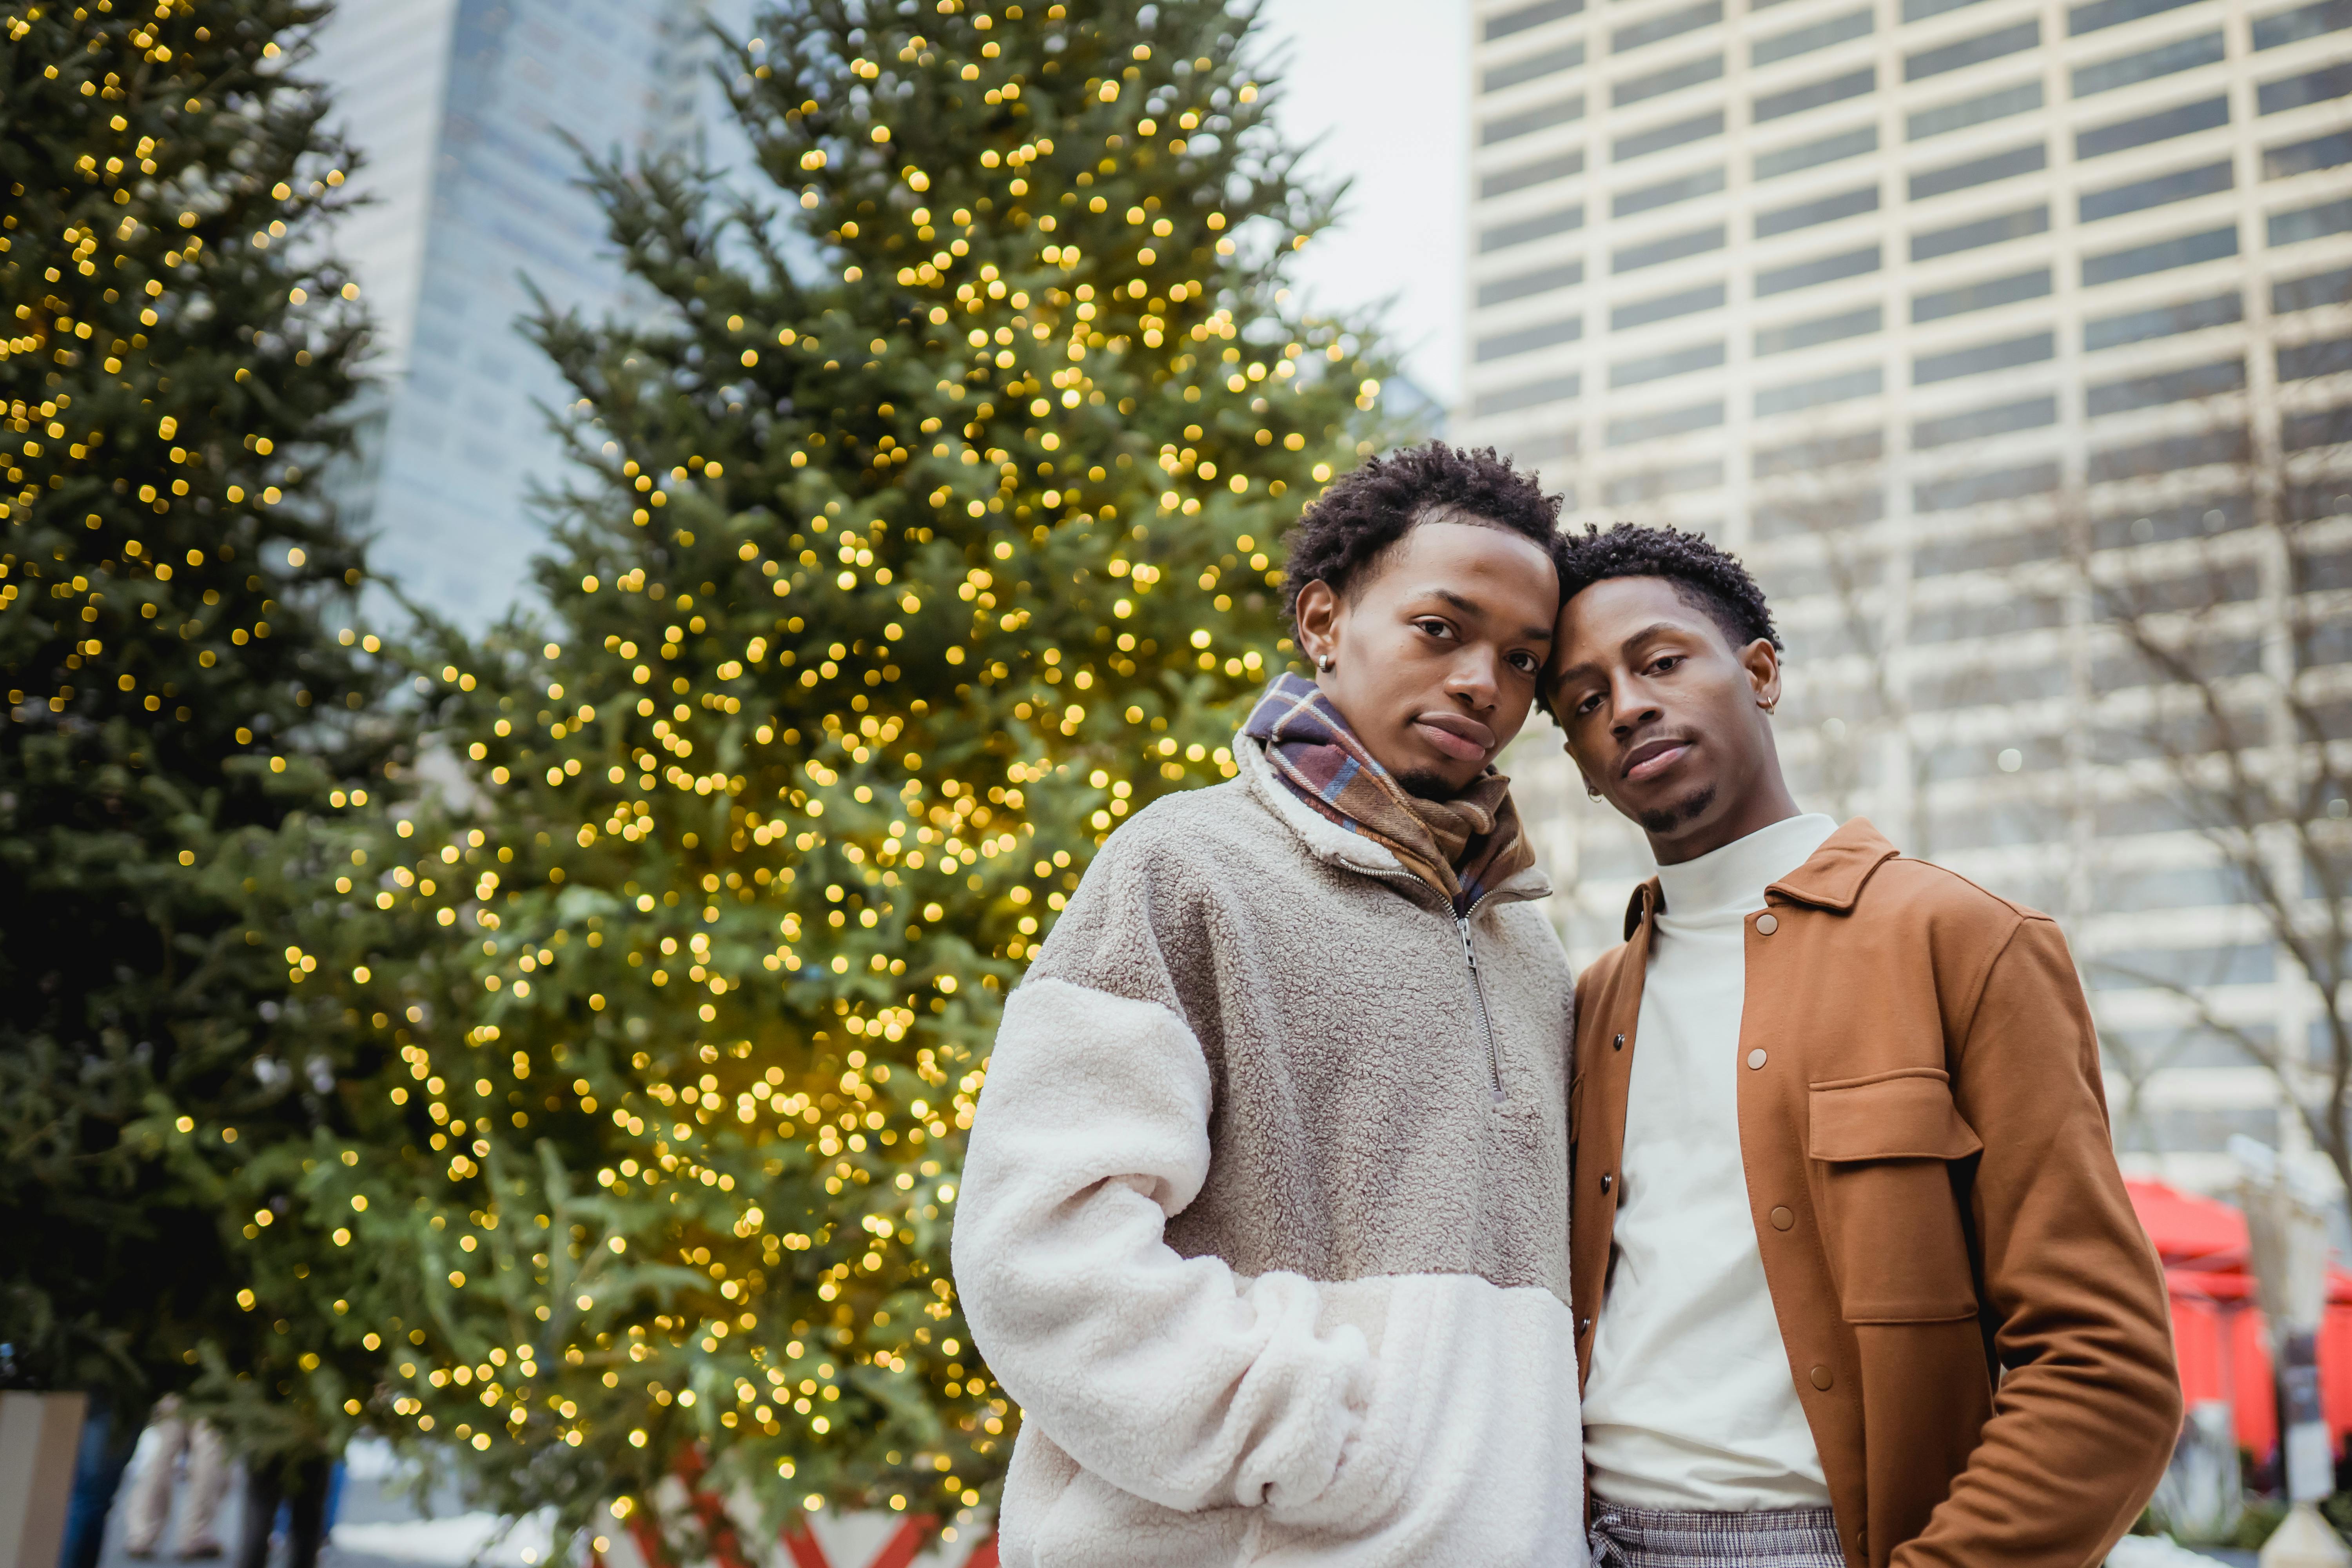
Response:
[{"label": "rust-brown button-up jacket worn open over a white turtleneck", "polygon": [[[1849,1568],[2084,1568],[2180,1429],[2164,1276],[2046,914],[1839,827],[1748,917],[1740,1164]],[[1590,1373],[1658,884],[1576,987]]]}]

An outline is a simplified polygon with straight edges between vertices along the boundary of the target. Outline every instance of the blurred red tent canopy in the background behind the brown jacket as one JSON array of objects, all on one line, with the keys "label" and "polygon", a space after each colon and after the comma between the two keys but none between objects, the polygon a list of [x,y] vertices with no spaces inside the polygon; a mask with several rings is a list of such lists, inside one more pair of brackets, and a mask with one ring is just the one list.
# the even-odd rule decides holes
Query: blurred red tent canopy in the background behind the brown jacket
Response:
[{"label": "blurred red tent canopy in the background behind the brown jacket", "polygon": [[[2173,1354],[2187,1401],[2232,1408],[2237,1443],[2267,1458],[2279,1443],[2279,1394],[2270,1328],[2246,1262],[2246,1215],[2164,1182],[2124,1182],[2140,1227],[2164,1262],[2173,1305]],[[2319,1410],[2343,1455],[2352,1434],[2352,1274],[2328,1269],[2319,1321]]]}]

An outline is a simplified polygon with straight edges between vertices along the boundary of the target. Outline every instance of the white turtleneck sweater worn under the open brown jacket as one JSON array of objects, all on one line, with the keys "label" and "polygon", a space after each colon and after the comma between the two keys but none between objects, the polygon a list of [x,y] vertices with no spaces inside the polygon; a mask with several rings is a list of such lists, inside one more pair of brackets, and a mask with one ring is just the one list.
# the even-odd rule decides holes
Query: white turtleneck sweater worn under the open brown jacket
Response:
[{"label": "white turtleneck sweater worn under the open brown jacket", "polygon": [[1792,816],[1658,867],[1625,1098],[1606,1309],[1585,1385],[1592,1495],[1656,1509],[1825,1507],[1740,1164],[1748,914],[1837,830]]}]

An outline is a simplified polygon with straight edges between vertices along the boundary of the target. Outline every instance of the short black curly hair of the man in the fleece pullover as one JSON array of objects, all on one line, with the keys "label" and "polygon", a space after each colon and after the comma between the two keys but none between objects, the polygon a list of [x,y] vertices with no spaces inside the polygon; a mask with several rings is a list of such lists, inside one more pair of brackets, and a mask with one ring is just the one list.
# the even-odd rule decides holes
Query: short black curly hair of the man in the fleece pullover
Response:
[{"label": "short black curly hair of the man in the fleece pullover", "polygon": [[1534,541],[1559,564],[1559,496],[1519,473],[1494,447],[1444,442],[1404,447],[1341,475],[1291,527],[1284,611],[1298,625],[1298,592],[1329,583],[1352,597],[1381,557],[1423,522],[1470,522]]}]

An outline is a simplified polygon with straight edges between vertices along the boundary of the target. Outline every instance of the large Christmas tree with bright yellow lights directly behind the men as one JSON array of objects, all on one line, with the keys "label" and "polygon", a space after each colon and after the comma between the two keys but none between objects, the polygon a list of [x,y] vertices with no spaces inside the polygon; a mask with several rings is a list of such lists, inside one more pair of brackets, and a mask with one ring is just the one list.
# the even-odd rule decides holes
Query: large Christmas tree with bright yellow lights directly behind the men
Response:
[{"label": "large Christmas tree with bright yellow lights directly behind the men", "polygon": [[661,310],[539,322],[546,618],[428,668],[468,788],[310,938],[402,1067],[275,1229],[348,1239],[374,1415],[489,1500],[708,1556],[666,1476],[774,1523],[1000,1474],[943,1272],[997,1004],[1124,816],[1232,776],[1279,534],[1369,449],[1244,31],[818,0],[734,54],[781,214],[593,172]]}]

